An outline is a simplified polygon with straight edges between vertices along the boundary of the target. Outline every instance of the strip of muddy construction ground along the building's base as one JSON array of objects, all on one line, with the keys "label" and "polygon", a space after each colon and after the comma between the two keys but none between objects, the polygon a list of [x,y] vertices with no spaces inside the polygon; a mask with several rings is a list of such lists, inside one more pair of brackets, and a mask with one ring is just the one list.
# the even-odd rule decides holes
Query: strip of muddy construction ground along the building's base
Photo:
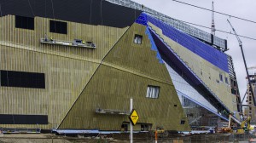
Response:
[{"label": "strip of muddy construction ground along the building's base", "polygon": [[[127,134],[115,134],[116,138],[111,135],[98,135],[84,137],[67,137],[55,134],[4,134],[0,137],[0,143],[129,143]],[[114,135],[113,135],[114,136]],[[134,143],[154,143],[154,137],[135,136]],[[244,134],[193,134],[183,136],[181,134],[172,135],[172,137],[160,137],[158,143],[247,143],[249,135]],[[256,138],[254,139],[256,142]]]}]

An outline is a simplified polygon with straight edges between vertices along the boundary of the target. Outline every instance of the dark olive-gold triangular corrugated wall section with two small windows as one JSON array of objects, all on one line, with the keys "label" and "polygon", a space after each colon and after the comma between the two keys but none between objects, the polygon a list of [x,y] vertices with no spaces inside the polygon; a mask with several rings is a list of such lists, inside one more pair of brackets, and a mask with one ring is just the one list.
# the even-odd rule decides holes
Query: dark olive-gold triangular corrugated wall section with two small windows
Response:
[{"label": "dark olive-gold triangular corrugated wall section with two small windows", "polygon": [[[97,114],[96,108],[127,111],[132,97],[140,116],[138,123],[153,123],[153,129],[162,126],[167,130],[189,130],[166,66],[160,64],[156,51],[151,49],[145,30],[145,26],[133,24],[126,31],[104,58],[59,129],[119,130],[123,122],[129,121],[127,116]],[[133,43],[135,34],[143,36],[142,44]],[[148,85],[160,86],[158,99],[146,98]],[[180,124],[181,119],[186,121],[184,125]]]}]

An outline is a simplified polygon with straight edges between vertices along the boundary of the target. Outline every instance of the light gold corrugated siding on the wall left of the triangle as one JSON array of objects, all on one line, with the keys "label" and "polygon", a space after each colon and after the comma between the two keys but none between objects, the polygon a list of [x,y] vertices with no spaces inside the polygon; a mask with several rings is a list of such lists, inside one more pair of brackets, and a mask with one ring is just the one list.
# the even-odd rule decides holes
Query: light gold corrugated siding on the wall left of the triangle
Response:
[{"label": "light gold corrugated siding on the wall left of the triangle", "polygon": [[[2,114],[44,114],[56,128],[96,67],[127,28],[67,22],[67,35],[49,32],[49,19],[35,18],[35,30],[15,28],[15,16],[0,18],[0,70],[45,73],[46,89],[0,87]],[[44,33],[58,40],[93,41],[96,49],[41,44]],[[37,125],[1,125],[38,128]]]}]

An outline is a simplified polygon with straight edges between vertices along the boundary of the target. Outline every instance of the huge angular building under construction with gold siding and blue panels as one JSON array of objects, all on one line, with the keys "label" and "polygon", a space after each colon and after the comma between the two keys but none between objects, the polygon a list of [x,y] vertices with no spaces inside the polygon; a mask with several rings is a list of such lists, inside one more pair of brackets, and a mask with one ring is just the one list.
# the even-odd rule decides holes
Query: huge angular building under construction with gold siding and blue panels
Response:
[{"label": "huge angular building under construction with gold siding and blue panels", "polygon": [[0,127],[215,126],[241,101],[227,41],[130,0],[0,0]]}]

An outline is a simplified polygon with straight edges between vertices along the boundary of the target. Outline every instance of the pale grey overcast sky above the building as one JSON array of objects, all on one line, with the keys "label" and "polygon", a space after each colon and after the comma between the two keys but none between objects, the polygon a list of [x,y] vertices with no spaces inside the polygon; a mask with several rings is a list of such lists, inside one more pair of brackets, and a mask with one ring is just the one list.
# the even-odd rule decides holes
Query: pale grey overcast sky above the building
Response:
[{"label": "pale grey overcast sky above the building", "polygon": [[[191,23],[195,23],[202,26],[211,26],[212,12],[203,9],[197,9],[189,5],[177,3],[172,0],[133,0],[134,2],[141,3],[144,6],[154,9],[166,14],[177,20],[184,20]],[[190,3],[203,7],[206,9],[212,9],[212,0],[179,0],[184,3]],[[247,20],[256,21],[256,1],[255,0],[213,0],[214,10],[241,17]],[[230,25],[227,22],[230,20],[234,26],[237,34],[247,37],[253,37],[256,39],[256,23],[247,22],[244,20],[238,20],[236,18],[230,18],[229,16],[215,14],[215,27],[218,30],[231,31]],[[198,27],[201,30],[211,32],[209,29]],[[233,31],[232,31],[233,32]],[[228,48],[230,49],[227,54],[230,54],[233,58],[235,65],[236,77],[240,89],[241,97],[246,92],[247,80],[245,66],[243,64],[241,49],[236,40],[236,36],[216,31],[217,37],[225,38],[228,40]],[[247,66],[256,66],[256,41],[249,40],[241,37],[242,46],[247,60]],[[256,70],[255,70],[256,71]]]}]

